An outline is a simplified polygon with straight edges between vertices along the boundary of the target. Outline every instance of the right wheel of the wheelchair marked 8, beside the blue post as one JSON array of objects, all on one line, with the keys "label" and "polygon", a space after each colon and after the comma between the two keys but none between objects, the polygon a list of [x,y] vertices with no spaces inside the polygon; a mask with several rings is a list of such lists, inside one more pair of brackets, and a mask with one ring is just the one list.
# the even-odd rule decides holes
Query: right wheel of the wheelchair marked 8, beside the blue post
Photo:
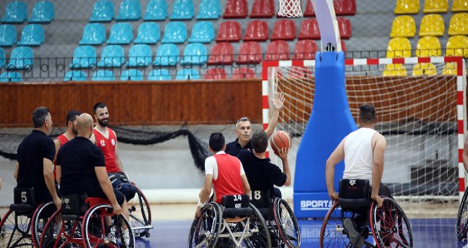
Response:
[{"label": "right wheel of the wheelchair marked 8, beside the blue post", "polygon": [[301,247],[301,231],[296,216],[288,203],[282,198],[274,199],[274,221],[277,222],[278,232],[288,248]]}]

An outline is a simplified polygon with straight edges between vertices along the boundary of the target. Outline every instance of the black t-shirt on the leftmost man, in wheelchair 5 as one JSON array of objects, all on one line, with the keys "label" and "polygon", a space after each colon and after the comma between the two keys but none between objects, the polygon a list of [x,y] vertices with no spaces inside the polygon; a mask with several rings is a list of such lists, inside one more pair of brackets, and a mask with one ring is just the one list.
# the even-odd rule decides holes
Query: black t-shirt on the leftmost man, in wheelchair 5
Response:
[{"label": "black t-shirt on the leftmost man, in wheelchair 5", "polygon": [[18,147],[18,188],[35,188],[38,193],[48,193],[44,179],[44,159],[53,161],[54,142],[40,130],[33,130]]}]

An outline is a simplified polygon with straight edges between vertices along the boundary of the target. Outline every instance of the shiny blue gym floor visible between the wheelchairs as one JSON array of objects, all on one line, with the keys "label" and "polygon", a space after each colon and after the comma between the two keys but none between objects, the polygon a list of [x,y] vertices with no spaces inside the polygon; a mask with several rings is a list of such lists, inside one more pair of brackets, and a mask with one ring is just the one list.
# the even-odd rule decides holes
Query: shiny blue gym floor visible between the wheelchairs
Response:
[{"label": "shiny blue gym floor visible between the wheelchairs", "polygon": [[[455,219],[411,219],[414,247],[459,247],[467,242],[459,242],[455,234]],[[191,220],[156,221],[149,238],[138,238],[137,247],[186,247]],[[301,247],[318,247],[318,237],[322,220],[299,220]]]}]

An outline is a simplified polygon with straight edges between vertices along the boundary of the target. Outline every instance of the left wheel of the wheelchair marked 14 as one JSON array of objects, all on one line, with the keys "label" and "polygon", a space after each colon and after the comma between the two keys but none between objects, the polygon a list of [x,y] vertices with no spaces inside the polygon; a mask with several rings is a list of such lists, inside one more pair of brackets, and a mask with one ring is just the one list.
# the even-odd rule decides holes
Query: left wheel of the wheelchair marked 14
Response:
[{"label": "left wheel of the wheelchair marked 14", "polygon": [[208,203],[201,209],[199,218],[191,223],[189,248],[215,247],[221,232],[221,208],[217,203]]}]

